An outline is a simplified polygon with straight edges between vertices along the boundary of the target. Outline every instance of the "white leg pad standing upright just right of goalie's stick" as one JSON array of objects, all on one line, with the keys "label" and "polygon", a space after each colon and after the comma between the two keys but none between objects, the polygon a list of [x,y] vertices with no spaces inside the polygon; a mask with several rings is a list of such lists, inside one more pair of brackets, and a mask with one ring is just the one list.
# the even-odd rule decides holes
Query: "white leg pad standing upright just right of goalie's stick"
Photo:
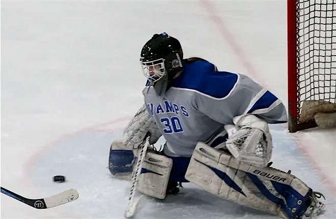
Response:
[{"label": "white leg pad standing upright just right of goalie's stick", "polygon": [[160,154],[147,152],[142,163],[138,182],[140,193],[158,199],[166,198],[172,165],[172,159]]}]

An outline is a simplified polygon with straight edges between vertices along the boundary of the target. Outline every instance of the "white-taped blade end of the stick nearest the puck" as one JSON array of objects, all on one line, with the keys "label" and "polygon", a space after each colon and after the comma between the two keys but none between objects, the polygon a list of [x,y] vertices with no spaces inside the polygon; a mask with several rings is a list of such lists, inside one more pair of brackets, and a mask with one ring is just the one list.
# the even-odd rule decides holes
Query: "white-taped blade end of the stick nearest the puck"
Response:
[{"label": "white-taped blade end of the stick nearest the puck", "polygon": [[72,202],[77,198],[78,198],[78,192],[72,188],[62,191],[62,193],[56,194],[55,196],[44,198],[44,202],[47,208],[52,208],[58,205]]}]

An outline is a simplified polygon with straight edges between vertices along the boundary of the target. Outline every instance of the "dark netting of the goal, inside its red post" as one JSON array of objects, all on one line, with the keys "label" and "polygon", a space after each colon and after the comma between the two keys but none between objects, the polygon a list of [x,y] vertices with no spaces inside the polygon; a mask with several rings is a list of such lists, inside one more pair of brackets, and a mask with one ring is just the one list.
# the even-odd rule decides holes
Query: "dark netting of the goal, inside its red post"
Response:
[{"label": "dark netting of the goal, inside its red post", "polygon": [[297,1],[298,115],[307,100],[336,103],[336,1]]}]

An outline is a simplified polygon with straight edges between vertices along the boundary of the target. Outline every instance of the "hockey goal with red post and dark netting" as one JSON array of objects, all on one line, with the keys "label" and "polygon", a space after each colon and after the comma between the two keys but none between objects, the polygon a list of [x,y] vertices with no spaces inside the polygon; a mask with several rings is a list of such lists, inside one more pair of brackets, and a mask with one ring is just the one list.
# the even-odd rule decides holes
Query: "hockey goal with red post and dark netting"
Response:
[{"label": "hockey goal with red post and dark netting", "polygon": [[291,132],[336,125],[336,1],[288,0]]}]

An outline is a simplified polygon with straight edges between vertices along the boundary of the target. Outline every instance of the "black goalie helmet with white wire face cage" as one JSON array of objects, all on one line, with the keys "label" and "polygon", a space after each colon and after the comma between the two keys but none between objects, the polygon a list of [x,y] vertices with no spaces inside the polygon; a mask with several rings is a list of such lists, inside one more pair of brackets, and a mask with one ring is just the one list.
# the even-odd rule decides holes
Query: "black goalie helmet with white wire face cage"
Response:
[{"label": "black goalie helmet with white wire face cage", "polygon": [[183,51],[179,41],[166,33],[154,34],[141,50],[140,63],[151,83],[162,77],[172,79],[183,69]]}]

